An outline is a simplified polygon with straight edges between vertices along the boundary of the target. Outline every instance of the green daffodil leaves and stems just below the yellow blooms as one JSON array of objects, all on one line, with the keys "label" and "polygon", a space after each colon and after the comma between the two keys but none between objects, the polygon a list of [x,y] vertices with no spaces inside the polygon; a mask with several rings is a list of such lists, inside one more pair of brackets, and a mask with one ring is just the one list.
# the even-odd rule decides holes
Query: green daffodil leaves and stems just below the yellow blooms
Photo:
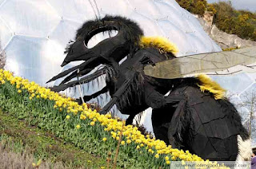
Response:
[{"label": "green daffodil leaves and stems just below the yellow blooms", "polygon": [[[107,153],[110,151],[112,154],[110,160],[114,161],[118,141],[112,138],[111,132],[105,131],[105,126],[99,122],[90,125],[92,120],[89,117],[81,120],[80,114],[68,113],[67,108],[63,108],[62,111],[54,108],[54,100],[30,99],[30,94],[26,90],[22,90],[21,93],[17,91],[15,85],[10,85],[9,81],[0,85],[0,108],[3,112],[8,112],[10,116],[26,121],[30,126],[50,132],[52,136],[61,138],[66,143],[72,143],[89,154],[99,155],[103,160],[108,158]],[[66,115],[70,115],[69,120],[66,119]],[[76,128],[78,124],[81,125],[79,129]],[[103,141],[104,137],[108,140]],[[126,141],[126,138],[123,137],[122,140]],[[163,158],[166,155],[154,158],[153,153],[156,153],[156,150],[150,153],[144,147],[138,150],[137,146],[138,143],[131,142],[120,147],[117,167],[136,169],[169,167]]]}]

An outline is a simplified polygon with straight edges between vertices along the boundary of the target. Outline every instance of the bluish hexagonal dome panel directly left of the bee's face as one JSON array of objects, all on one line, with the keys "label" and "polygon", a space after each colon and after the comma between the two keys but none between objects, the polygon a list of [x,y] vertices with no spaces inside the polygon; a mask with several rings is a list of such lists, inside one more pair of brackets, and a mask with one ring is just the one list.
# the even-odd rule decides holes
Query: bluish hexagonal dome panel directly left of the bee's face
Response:
[{"label": "bluish hexagonal dome panel directly left of the bee's face", "polygon": [[44,85],[60,71],[62,46],[46,38],[15,36],[6,47],[6,69]]}]

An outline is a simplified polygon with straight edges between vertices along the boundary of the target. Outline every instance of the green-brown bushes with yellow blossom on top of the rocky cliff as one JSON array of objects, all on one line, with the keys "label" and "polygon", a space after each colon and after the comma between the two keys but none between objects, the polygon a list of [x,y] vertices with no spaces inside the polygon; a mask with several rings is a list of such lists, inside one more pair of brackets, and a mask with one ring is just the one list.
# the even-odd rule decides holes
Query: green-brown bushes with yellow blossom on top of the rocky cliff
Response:
[{"label": "green-brown bushes with yellow blossom on top of the rocky cliff", "polygon": [[235,10],[230,2],[208,4],[206,0],[176,0],[182,8],[203,16],[205,11],[214,14],[214,24],[222,31],[236,34],[243,39],[256,41],[256,14]]}]

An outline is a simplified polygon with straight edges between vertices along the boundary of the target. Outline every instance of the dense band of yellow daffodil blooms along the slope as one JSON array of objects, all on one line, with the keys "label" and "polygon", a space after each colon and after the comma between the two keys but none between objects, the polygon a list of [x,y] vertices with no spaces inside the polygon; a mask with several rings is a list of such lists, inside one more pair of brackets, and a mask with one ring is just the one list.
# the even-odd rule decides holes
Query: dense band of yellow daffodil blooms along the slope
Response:
[{"label": "dense band of yellow daffodil blooms along the slope", "polygon": [[[154,151],[156,151],[154,157],[158,159],[160,156],[164,156],[166,164],[170,164],[170,159],[181,159],[182,163],[185,163],[185,161],[203,161],[202,158],[198,157],[197,155],[190,154],[189,151],[174,149],[170,145],[166,146],[166,143],[164,143],[162,140],[156,140],[155,138],[151,139],[150,135],[143,136],[142,133],[138,131],[137,127],[132,125],[123,126],[122,121],[112,118],[110,113],[100,115],[98,112],[96,112],[96,110],[92,111],[90,108],[88,108],[87,104],[79,105],[70,97],[67,98],[56,92],[51,92],[49,88],[42,88],[41,86],[35,84],[34,81],[30,83],[28,80],[22,79],[22,77],[13,77],[10,72],[0,69],[1,85],[8,81],[11,85],[14,85],[14,88],[17,89],[18,93],[22,93],[22,91],[28,92],[30,94],[30,100],[33,97],[36,97],[37,99],[42,98],[45,100],[53,100],[53,108],[56,108],[56,110],[60,112],[72,112],[74,116],[79,115],[80,120],[90,119],[91,126],[94,126],[95,122],[98,121],[101,128],[104,128],[104,131],[102,131],[110,132],[114,140],[120,139],[119,136],[120,132],[122,131],[122,136],[126,139],[126,141],[122,140],[122,145],[125,145],[125,143],[130,144],[134,142],[137,144],[136,149],[141,149],[139,150],[140,153],[143,150],[142,148],[145,148],[151,155],[154,155]],[[67,115],[66,120],[69,119],[70,115]],[[80,124],[76,125],[76,128],[81,128]],[[107,138],[104,137],[102,140],[106,141]],[[90,163],[89,161],[88,163]],[[206,163],[208,162],[206,161]]]}]

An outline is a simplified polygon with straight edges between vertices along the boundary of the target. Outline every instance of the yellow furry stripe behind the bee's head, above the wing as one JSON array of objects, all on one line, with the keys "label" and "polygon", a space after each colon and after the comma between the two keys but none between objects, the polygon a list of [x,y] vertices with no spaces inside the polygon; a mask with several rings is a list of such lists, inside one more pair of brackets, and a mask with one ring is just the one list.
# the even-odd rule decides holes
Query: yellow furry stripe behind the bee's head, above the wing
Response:
[{"label": "yellow furry stripe behind the bee's head, above the wing", "polygon": [[144,37],[142,36],[140,39],[139,45],[141,48],[146,47],[154,47],[160,50],[160,52],[164,53],[178,53],[178,47],[168,41],[165,37]]}]

